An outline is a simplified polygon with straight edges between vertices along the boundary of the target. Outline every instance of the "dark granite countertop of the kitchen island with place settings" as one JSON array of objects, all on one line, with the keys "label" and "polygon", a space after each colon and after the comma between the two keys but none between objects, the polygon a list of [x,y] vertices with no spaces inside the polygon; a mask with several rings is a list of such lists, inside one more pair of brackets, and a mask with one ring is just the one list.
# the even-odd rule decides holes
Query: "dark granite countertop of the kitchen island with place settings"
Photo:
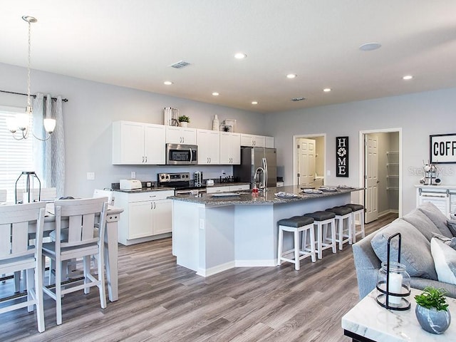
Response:
[{"label": "dark granite countertop of the kitchen island with place settings", "polygon": [[[337,191],[328,191],[321,194],[303,194],[300,187],[296,186],[286,186],[286,187],[269,187],[266,191],[266,195],[258,195],[254,197],[251,193],[251,190],[247,191],[237,191],[229,192],[229,194],[236,195],[227,195],[227,193],[218,193],[218,194],[203,194],[200,196],[187,195],[187,196],[172,196],[168,197],[170,199],[175,199],[177,201],[192,202],[196,204],[204,204],[207,207],[217,207],[224,205],[234,205],[234,204],[281,204],[289,202],[298,202],[308,199],[316,199],[322,197],[331,197],[341,194],[346,194],[353,191],[361,191],[363,188],[346,188],[346,189],[337,189]],[[276,193],[286,192],[287,194],[293,194],[293,197],[276,197]]]}]

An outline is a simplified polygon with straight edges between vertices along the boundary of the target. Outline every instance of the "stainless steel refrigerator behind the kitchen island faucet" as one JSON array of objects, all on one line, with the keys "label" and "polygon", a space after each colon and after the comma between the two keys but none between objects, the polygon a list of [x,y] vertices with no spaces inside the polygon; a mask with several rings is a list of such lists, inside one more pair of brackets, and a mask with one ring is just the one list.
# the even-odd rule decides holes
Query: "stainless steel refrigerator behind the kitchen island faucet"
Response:
[{"label": "stainless steel refrigerator behind the kitchen island faucet", "polygon": [[255,172],[261,167],[266,175],[266,187],[277,185],[277,158],[275,148],[241,147],[241,164],[233,166],[233,176],[239,182],[254,185]]}]

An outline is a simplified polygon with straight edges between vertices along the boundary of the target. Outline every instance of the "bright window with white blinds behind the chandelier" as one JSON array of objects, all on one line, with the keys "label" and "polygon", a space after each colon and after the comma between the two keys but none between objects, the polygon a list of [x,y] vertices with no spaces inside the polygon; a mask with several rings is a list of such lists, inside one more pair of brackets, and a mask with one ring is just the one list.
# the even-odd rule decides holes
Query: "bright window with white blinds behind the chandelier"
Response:
[{"label": "bright window with white blinds behind the chandelier", "polygon": [[[6,118],[24,113],[24,108],[0,106],[0,189],[8,192],[7,201],[14,202],[15,183],[22,171],[33,171],[33,138],[16,140],[6,128]],[[16,133],[19,136],[18,133]],[[39,177],[39,176],[38,176]],[[18,188],[24,188],[18,182]]]}]

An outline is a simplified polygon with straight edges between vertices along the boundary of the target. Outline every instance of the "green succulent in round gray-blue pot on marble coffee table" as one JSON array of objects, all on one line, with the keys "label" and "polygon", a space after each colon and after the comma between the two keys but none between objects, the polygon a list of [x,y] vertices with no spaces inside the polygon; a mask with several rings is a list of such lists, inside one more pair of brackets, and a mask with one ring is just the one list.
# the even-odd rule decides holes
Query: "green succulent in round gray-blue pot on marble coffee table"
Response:
[{"label": "green succulent in round gray-blue pot on marble coffee table", "polygon": [[450,326],[451,315],[444,289],[426,286],[421,294],[415,296],[415,314],[421,328],[429,333],[443,333]]}]

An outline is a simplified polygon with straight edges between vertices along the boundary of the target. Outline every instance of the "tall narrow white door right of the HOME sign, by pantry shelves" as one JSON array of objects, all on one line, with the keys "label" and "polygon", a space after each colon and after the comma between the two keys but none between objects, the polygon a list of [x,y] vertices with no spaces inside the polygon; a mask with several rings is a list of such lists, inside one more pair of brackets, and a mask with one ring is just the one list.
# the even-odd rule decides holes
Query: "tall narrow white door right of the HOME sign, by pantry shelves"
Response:
[{"label": "tall narrow white door right of the HOME sign, by pantry shelves", "polygon": [[366,223],[378,219],[378,139],[376,135],[365,135],[366,168],[364,179],[366,181]]}]

